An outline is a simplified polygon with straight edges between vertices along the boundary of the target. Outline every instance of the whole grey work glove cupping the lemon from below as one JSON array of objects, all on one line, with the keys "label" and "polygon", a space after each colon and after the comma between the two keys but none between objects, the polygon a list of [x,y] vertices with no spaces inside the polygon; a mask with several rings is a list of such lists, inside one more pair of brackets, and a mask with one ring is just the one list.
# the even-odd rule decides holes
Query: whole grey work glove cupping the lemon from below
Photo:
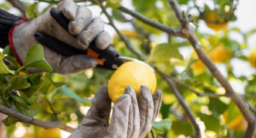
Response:
[{"label": "whole grey work glove cupping the lemon from below", "polygon": [[69,137],[145,137],[160,110],[161,101],[161,91],[151,95],[149,89],[142,86],[137,100],[134,89],[126,86],[125,94],[114,104],[109,125],[111,101],[107,87],[101,87],[93,98],[92,107],[83,122]]}]

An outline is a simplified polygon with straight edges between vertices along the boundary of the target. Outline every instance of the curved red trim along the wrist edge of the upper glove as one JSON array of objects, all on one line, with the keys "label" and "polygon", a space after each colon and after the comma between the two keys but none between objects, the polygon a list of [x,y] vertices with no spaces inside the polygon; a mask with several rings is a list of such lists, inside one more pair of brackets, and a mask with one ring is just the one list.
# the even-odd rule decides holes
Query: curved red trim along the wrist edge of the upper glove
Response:
[{"label": "curved red trim along the wrist edge of the upper glove", "polygon": [[14,31],[14,29],[15,29],[17,26],[21,25],[21,24],[24,23],[24,22],[28,22],[28,21],[29,21],[29,19],[27,19],[27,17],[22,17],[21,19],[22,19],[22,21],[16,23],[16,24],[9,30],[9,32],[8,32],[8,40],[9,40],[9,43],[10,43],[11,53],[13,53],[14,57],[16,58],[17,62],[18,62],[19,65],[20,65],[20,67],[23,66],[23,62],[22,62],[22,60],[20,59],[19,55],[17,54],[17,52],[16,52],[16,50],[15,50],[15,47],[14,47],[14,45],[13,45],[13,31]]}]

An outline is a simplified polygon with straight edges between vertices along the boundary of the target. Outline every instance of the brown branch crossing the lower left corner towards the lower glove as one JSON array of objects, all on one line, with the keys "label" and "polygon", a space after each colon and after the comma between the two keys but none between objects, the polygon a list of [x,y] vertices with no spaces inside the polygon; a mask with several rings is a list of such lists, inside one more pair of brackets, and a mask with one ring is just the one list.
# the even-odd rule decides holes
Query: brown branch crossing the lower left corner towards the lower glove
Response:
[{"label": "brown branch crossing the lower left corner towards the lower glove", "polygon": [[16,118],[18,121],[20,122],[25,122],[27,124],[31,124],[31,125],[36,125],[38,127],[42,127],[45,129],[48,128],[60,128],[61,130],[65,130],[68,132],[72,132],[74,129],[71,127],[68,127],[67,125],[62,124],[61,122],[57,121],[57,122],[45,122],[45,121],[41,121],[39,119],[30,117],[30,116],[25,116],[22,113],[16,112],[13,109],[9,109],[5,106],[0,105],[0,112],[4,113],[5,115],[11,116],[13,118]]}]

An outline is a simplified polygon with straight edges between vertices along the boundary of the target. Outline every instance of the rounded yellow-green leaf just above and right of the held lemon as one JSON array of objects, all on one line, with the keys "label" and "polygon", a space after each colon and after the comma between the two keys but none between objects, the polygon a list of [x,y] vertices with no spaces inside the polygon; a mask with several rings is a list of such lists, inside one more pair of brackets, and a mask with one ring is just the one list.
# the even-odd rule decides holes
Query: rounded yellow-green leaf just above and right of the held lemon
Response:
[{"label": "rounded yellow-green leaf just above and right of the held lemon", "polygon": [[183,59],[178,48],[168,43],[158,44],[150,53],[149,62],[170,62],[171,58]]}]

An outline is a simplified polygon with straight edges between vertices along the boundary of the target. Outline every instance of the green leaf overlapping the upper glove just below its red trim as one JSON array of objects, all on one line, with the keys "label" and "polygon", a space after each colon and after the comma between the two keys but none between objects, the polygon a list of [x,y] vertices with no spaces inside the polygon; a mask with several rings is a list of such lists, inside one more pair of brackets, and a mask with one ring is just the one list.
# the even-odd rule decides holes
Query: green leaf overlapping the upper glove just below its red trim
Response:
[{"label": "green leaf overlapping the upper glove just below its red trim", "polygon": [[25,64],[22,68],[24,67],[35,67],[49,72],[52,71],[51,65],[48,64],[45,60],[45,56],[43,55],[42,45],[36,44],[28,49]]}]

